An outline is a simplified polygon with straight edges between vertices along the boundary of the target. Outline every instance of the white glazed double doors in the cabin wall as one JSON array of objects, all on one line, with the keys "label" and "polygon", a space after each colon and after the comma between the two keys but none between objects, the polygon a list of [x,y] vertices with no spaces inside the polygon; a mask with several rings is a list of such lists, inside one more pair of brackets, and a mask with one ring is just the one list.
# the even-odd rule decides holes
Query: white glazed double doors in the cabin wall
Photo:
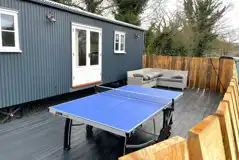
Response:
[{"label": "white glazed double doors in the cabin wall", "polygon": [[101,82],[102,29],[72,24],[72,87]]}]

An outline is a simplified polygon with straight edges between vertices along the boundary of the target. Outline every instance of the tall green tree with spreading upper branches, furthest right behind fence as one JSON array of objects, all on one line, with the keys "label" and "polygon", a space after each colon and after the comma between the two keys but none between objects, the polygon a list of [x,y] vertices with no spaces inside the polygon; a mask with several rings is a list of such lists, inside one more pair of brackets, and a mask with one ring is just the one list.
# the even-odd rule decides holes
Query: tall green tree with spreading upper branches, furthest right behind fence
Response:
[{"label": "tall green tree with spreading upper branches, furthest right behind fence", "polygon": [[204,56],[210,50],[210,43],[217,39],[213,32],[216,23],[223,17],[228,6],[223,6],[222,0],[184,0],[184,12],[188,25],[195,33],[192,50],[194,56]]}]

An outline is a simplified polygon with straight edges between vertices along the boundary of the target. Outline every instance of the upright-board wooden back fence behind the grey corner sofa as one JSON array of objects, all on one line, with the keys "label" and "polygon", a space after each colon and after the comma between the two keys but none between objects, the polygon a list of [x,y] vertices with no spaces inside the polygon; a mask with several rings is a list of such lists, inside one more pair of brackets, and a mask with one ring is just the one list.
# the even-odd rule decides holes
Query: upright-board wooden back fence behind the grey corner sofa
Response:
[{"label": "upright-board wooden back fence behind the grey corner sofa", "polygon": [[189,88],[225,92],[233,75],[232,60],[178,56],[143,56],[144,68],[188,71]]}]

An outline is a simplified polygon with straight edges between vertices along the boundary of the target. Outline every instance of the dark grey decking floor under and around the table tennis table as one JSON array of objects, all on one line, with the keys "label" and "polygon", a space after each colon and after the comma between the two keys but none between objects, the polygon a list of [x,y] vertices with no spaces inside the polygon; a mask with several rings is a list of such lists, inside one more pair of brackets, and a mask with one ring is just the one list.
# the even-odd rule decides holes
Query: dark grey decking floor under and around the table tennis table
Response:
[{"label": "dark grey decking floor under and around the table tennis table", "polygon": [[[120,137],[94,128],[94,136],[86,138],[85,126],[73,127],[71,150],[63,151],[64,118],[52,116],[46,108],[78,97],[41,102],[39,105],[45,105],[44,110],[0,125],[0,160],[114,160],[121,156],[123,140]],[[221,98],[215,92],[185,90],[184,96],[175,103],[172,136],[186,137],[191,127],[215,113]],[[159,132],[162,114],[157,116],[156,122]],[[152,128],[152,122],[147,122],[130,142],[151,138],[152,135],[145,132],[152,132]]]}]

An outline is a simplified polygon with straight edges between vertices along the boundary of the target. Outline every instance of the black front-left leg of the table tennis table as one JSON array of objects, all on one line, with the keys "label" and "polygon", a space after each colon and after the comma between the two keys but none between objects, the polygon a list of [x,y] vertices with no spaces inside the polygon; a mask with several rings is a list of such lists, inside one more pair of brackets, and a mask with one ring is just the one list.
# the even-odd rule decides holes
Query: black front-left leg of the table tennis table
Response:
[{"label": "black front-left leg of the table tennis table", "polygon": [[71,126],[72,120],[66,118],[65,133],[64,133],[64,150],[70,150],[71,148]]}]

